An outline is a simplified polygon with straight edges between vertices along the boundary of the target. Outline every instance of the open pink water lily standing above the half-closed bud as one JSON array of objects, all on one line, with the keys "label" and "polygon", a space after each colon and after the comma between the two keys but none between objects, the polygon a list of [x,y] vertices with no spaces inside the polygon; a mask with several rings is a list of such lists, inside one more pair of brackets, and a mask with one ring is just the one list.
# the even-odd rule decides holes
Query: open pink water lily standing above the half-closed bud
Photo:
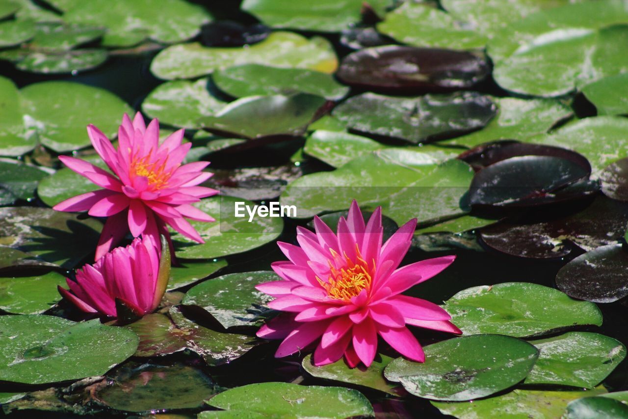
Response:
[{"label": "open pink water lily standing above the half-closed bud", "polygon": [[181,165],[192,146],[192,143],[181,144],[183,130],[175,131],[160,145],[158,120],[152,120],[147,127],[138,112],[133,122],[124,114],[118,130],[117,150],[94,125],[87,126],[87,134],[111,173],[74,157],[60,156],[59,159],[104,189],[74,196],[53,208],[58,211],[89,210],[92,216],[109,217],[100,235],[96,260],[129,231],[133,237],[151,238],[156,245],[160,245],[160,234],[165,235],[170,243],[166,224],[203,243],[185,218],[214,221],[191,204],[218,191],[198,186],[212,176],[212,173],[202,171],[209,162]]}]

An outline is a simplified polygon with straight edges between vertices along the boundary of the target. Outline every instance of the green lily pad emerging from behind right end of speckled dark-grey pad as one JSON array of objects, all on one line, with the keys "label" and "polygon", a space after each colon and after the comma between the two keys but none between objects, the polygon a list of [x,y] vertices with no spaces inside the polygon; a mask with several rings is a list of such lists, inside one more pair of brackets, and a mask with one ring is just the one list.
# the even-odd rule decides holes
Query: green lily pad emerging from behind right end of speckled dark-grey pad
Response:
[{"label": "green lily pad emerging from behind right end of speckled dark-grey pad", "polygon": [[492,100],[497,105],[497,116],[482,130],[443,143],[474,148],[476,145],[497,140],[523,140],[546,133],[558,121],[572,114],[569,106],[553,99]]}]

